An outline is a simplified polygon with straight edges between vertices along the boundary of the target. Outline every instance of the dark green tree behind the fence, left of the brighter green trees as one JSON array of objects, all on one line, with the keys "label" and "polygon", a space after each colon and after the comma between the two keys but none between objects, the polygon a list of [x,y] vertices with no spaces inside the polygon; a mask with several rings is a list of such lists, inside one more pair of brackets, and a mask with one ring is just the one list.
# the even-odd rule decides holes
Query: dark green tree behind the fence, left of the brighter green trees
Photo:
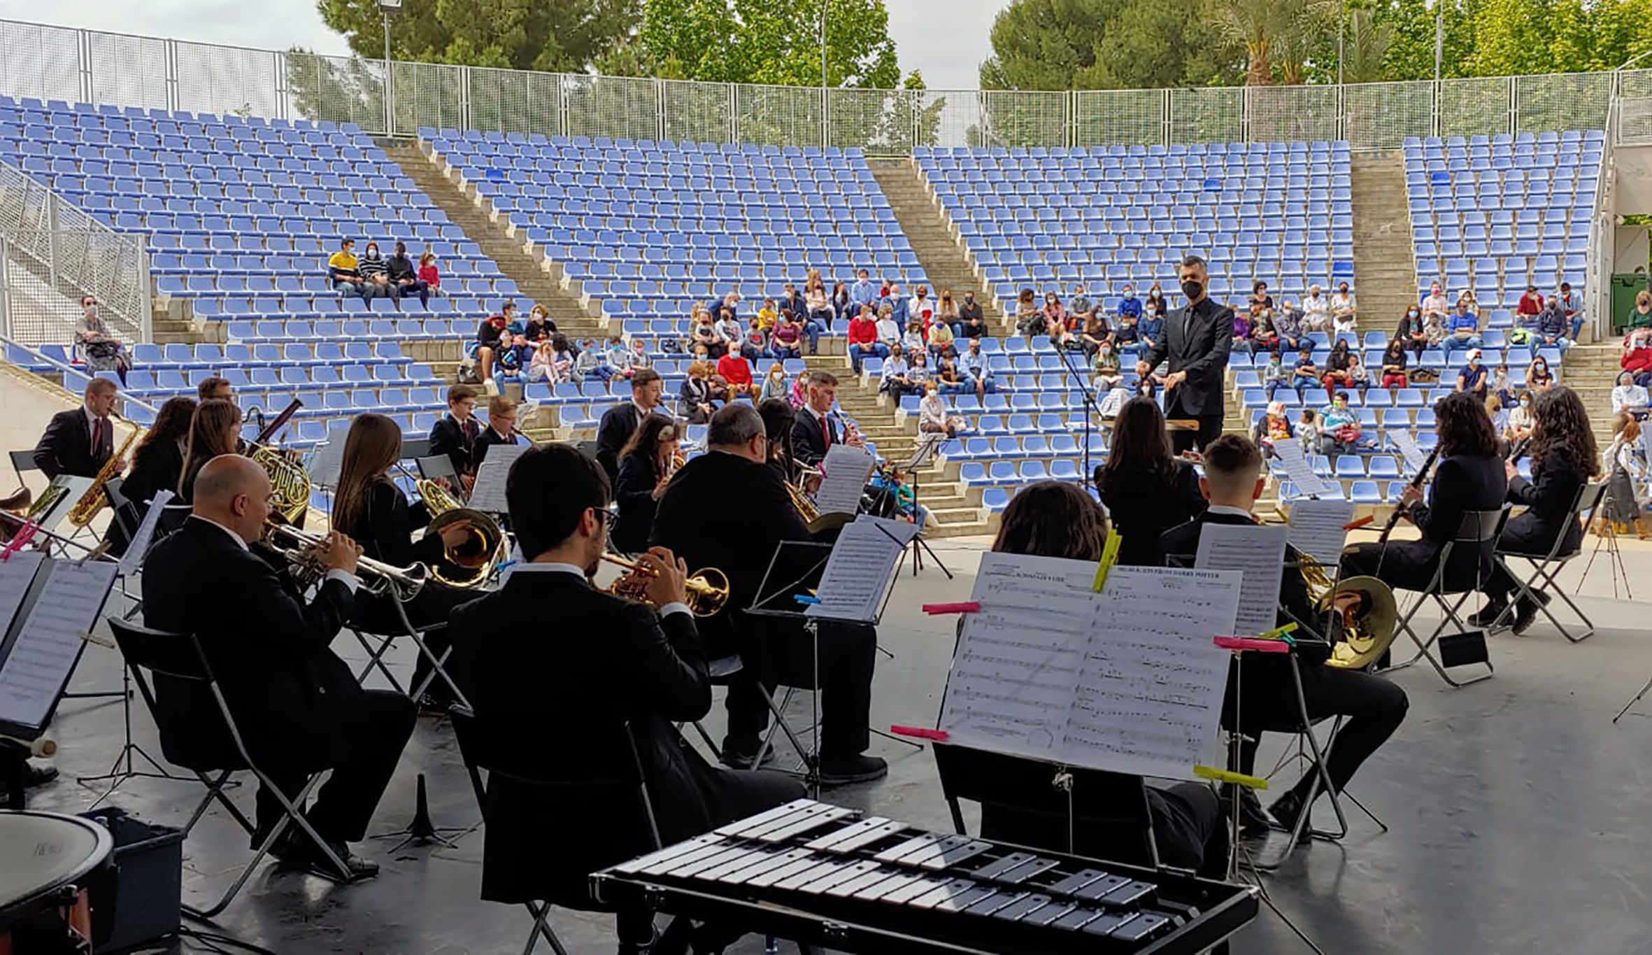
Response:
[{"label": "dark green tree behind the fence, left of the brighter green trees", "polygon": [[[362,58],[385,55],[378,0],[317,0],[329,28]],[[639,0],[403,0],[390,56],[425,63],[580,73],[638,25]]]}]

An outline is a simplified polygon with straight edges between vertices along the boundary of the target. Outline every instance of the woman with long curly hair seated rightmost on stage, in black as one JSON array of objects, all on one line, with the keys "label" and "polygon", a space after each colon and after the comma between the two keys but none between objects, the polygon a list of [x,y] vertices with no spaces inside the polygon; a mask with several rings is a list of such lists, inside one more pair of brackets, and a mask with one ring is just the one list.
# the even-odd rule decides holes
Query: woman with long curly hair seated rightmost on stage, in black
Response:
[{"label": "woman with long curly hair seated rightmost on stage, in black", "polygon": [[[1497,539],[1497,550],[1505,554],[1530,554],[1545,557],[1555,540],[1561,539],[1561,554],[1583,547],[1583,522],[1571,514],[1578,491],[1601,473],[1601,456],[1594,446],[1594,428],[1578,393],[1553,387],[1538,392],[1531,408],[1531,438],[1525,453],[1531,456],[1531,481],[1520,476],[1513,459],[1503,463],[1508,477],[1508,502],[1523,504],[1525,512],[1508,519]],[[1492,568],[1485,582],[1488,603],[1472,621],[1490,626],[1508,606],[1508,595],[1520,582],[1503,562]],[[1548,603],[1548,595],[1533,590],[1536,598],[1521,598],[1515,606],[1515,633],[1525,633],[1538,615],[1538,600]]]}]

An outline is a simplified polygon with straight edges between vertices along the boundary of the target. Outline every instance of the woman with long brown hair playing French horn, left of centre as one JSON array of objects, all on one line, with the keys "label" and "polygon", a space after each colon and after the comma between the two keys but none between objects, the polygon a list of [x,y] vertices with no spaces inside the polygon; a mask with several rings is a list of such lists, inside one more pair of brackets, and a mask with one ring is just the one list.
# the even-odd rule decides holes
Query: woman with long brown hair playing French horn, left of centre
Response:
[{"label": "woman with long brown hair playing French horn, left of centre", "polygon": [[[383,415],[357,415],[344,438],[344,458],[339,464],[339,486],[332,504],[332,527],[362,545],[362,554],[392,567],[425,563],[434,567],[443,549],[458,545],[464,530],[449,527],[446,539],[426,534],[413,540],[415,532],[430,524],[423,504],[408,506],[408,496],[396,487],[390,469],[401,459],[401,428]],[[418,595],[403,603],[408,623],[416,628],[448,620],[454,606],[476,600],[476,593],[443,587],[426,580]],[[355,598],[350,623],[372,633],[401,633],[401,616],[392,606],[388,595],[362,593]],[[425,636],[431,653],[446,651],[448,641],[439,631]],[[413,669],[413,686],[425,681],[430,661],[420,654]],[[444,701],[448,686],[434,681],[430,686],[433,702]]]}]

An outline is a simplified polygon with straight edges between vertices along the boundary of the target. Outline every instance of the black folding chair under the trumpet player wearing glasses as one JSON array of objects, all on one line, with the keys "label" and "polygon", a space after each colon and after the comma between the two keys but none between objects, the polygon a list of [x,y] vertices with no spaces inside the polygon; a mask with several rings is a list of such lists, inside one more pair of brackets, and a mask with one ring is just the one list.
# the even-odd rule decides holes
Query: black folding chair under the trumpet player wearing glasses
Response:
[{"label": "black folding chair under the trumpet player wearing glasses", "polygon": [[[496,744],[496,740],[506,737],[491,732],[484,725],[484,720],[477,719],[466,707],[454,706],[448,710],[448,715],[453,720],[454,742],[459,744],[459,757],[471,775],[471,788],[476,791],[476,803],[482,813],[484,826],[487,824],[487,788],[496,780],[509,778],[545,793],[547,813],[557,813],[560,808],[567,808],[570,803],[578,803],[580,800],[598,800],[606,806],[611,805],[616,793],[631,793],[636,800],[638,824],[648,828],[649,851],[661,848],[654,803],[648,795],[648,783],[643,778],[643,762],[638,757],[629,724],[618,724],[615,727],[582,725],[582,753],[577,757],[558,753],[555,760],[547,760],[539,753],[512,752]],[[578,775],[550,775],[547,773],[547,767],[550,765],[568,767],[570,772],[577,772]],[[486,780],[482,778],[484,772],[487,773]],[[615,862],[621,861],[624,859],[615,859]],[[482,864],[487,864],[486,859]],[[545,866],[555,869],[557,859],[545,859]],[[583,877],[586,872],[573,874]],[[539,940],[544,938],[557,955],[567,955],[568,950],[550,927],[552,902],[530,900],[524,902],[524,905],[534,917],[534,927],[529,932],[527,947],[522,953],[532,953],[539,947]],[[595,904],[591,909],[596,909]]]}]

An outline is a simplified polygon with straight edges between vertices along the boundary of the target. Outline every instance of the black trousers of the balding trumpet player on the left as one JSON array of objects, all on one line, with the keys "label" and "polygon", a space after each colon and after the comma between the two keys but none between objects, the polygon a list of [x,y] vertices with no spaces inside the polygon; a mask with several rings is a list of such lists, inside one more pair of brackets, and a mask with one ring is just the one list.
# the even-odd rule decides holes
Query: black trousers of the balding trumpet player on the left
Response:
[{"label": "black trousers of the balding trumpet player on the left", "polygon": [[[342,747],[332,775],[304,811],[324,839],[355,843],[367,834],[367,823],[396,772],[401,750],[413,735],[413,701],[387,691],[362,691],[355,712],[339,727]],[[309,772],[299,768],[261,767],[291,800],[304,788]],[[268,833],[281,821],[281,803],[264,786],[258,786],[258,831]],[[258,839],[254,839],[256,844]]]}]

